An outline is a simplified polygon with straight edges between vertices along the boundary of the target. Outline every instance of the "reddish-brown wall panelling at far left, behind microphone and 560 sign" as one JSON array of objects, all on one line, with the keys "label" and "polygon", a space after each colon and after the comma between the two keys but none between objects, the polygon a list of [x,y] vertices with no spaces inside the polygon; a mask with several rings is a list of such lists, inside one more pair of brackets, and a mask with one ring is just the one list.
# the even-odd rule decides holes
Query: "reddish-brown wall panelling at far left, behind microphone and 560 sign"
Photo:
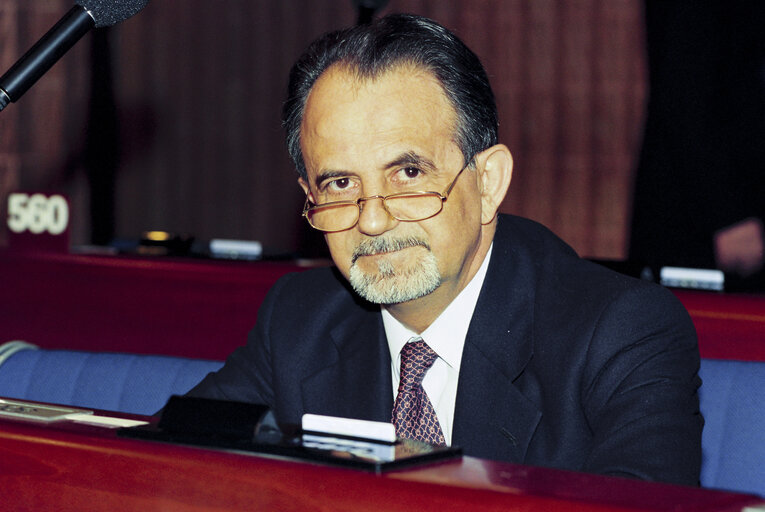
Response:
[{"label": "reddish-brown wall panelling at far left, behind microphone and 560 sign", "polygon": [[[0,2],[0,73],[5,73],[71,8],[66,0]],[[0,112],[0,211],[16,189],[52,190],[73,202],[73,234],[83,241],[87,203],[77,175],[87,115],[87,35],[18,102]],[[5,222],[3,222],[4,226]],[[0,244],[5,232],[0,228]]]}]

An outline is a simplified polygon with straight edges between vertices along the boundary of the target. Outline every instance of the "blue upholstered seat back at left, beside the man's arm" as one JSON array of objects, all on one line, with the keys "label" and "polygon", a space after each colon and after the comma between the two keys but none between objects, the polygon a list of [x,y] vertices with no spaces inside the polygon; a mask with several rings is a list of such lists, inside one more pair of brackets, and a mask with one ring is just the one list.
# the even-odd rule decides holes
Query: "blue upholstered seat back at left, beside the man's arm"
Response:
[{"label": "blue upholstered seat back at left, beside the man's arm", "polygon": [[0,345],[0,396],[154,414],[223,365],[182,357]]}]

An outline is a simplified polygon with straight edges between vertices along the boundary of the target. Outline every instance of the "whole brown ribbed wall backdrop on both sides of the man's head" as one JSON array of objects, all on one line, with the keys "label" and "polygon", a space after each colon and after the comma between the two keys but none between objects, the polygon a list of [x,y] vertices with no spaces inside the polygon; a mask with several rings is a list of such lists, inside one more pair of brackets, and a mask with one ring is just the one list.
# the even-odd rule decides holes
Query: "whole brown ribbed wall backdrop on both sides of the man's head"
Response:
[{"label": "whole brown ribbed wall backdrop on both sides of the man's head", "polygon": [[[70,6],[0,2],[0,67]],[[392,11],[435,18],[484,61],[515,157],[503,210],[584,255],[624,257],[646,91],[641,0],[390,0],[383,12]],[[86,36],[0,113],[0,197],[16,187],[67,193],[75,243],[108,237],[104,222],[120,237],[164,229],[317,252],[279,114],[292,61],[357,15],[350,0],[150,1],[106,41]],[[109,97],[104,116],[96,100]],[[112,122],[103,133],[94,124]],[[88,213],[99,172],[114,200],[95,215],[113,222]]]}]

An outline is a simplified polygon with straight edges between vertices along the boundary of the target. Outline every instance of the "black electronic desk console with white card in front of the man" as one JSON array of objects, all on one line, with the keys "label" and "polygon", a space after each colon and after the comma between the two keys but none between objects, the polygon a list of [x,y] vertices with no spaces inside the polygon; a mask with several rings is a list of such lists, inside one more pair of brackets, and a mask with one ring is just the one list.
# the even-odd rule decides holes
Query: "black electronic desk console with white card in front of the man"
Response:
[{"label": "black electronic desk console with white card in front of the man", "polygon": [[457,447],[396,439],[390,423],[306,414],[283,432],[265,405],[173,396],[157,424],[119,430],[124,437],[221,448],[382,473],[462,455]]}]

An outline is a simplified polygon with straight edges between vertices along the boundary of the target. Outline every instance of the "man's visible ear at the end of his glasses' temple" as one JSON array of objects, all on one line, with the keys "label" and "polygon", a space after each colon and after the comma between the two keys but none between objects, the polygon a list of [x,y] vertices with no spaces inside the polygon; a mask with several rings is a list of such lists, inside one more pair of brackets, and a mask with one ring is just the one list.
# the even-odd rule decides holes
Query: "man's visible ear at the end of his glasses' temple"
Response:
[{"label": "man's visible ear at the end of his glasses' temple", "polygon": [[497,144],[476,155],[478,186],[481,191],[481,223],[488,224],[497,215],[499,205],[510,187],[513,155],[504,144]]}]

